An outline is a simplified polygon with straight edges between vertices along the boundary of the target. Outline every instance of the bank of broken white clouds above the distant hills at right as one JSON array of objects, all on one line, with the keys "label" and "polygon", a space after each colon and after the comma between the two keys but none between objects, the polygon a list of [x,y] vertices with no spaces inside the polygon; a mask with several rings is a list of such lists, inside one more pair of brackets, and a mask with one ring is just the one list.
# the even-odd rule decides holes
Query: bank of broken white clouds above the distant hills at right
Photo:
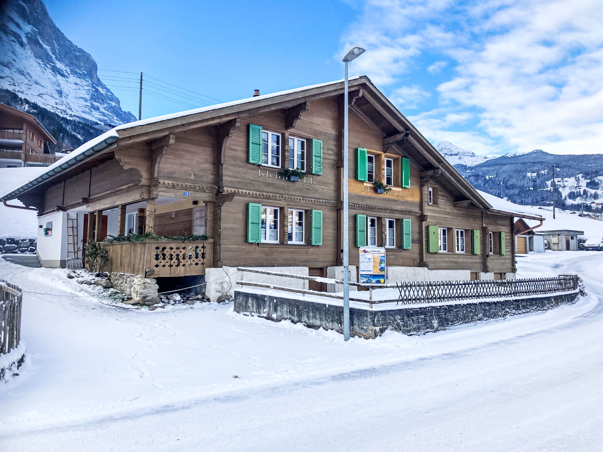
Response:
[{"label": "bank of broken white clouds above the distant hills at right", "polygon": [[[594,0],[370,1],[355,24],[363,26],[344,41],[368,42],[356,73],[390,85],[402,107],[430,99],[418,69],[443,71],[431,111],[412,117],[430,140],[479,154],[595,153],[603,143],[601,17],[603,2]],[[467,122],[472,114],[477,127]]]}]

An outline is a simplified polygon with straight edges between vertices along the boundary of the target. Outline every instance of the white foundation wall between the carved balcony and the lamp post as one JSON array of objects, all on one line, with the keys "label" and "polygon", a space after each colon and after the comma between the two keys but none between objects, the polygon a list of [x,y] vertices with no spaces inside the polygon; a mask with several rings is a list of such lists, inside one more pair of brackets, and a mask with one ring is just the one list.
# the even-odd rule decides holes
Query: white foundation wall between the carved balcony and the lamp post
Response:
[{"label": "white foundation wall between the carved balcony and the lamp post", "polygon": [[[250,267],[250,269],[308,276],[308,267]],[[235,289],[242,288],[239,284],[235,284],[241,278],[245,281],[253,281],[254,283],[276,284],[277,286],[308,290],[307,280],[239,272],[235,267],[222,267],[205,269],[205,280],[207,281],[205,296],[211,301],[218,301],[218,297],[221,296],[230,297],[230,300],[232,300],[235,297]]]}]

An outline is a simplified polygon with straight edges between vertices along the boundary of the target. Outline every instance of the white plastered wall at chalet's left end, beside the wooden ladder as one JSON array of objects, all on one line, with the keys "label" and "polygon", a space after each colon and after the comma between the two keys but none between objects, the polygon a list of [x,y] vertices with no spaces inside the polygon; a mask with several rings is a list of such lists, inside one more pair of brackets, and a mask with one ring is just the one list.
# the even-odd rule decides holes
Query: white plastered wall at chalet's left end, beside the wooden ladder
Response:
[{"label": "white plastered wall at chalet's left end, beside the wooden ladder", "polygon": [[[51,221],[52,235],[44,236],[43,228]],[[67,266],[67,212],[49,213],[38,218],[37,254],[43,267]]]}]

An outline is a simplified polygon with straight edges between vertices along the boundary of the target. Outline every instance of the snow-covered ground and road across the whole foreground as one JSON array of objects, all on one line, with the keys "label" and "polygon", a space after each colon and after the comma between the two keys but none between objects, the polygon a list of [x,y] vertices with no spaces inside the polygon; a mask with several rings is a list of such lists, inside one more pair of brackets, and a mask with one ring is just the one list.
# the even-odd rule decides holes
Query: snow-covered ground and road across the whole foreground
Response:
[{"label": "snow-covered ground and road across the whole foreground", "polygon": [[132,309],[64,269],[0,260],[27,291],[28,356],[0,385],[0,450],[599,450],[603,253],[518,268],[578,272],[589,297],[346,343],[232,304]]}]

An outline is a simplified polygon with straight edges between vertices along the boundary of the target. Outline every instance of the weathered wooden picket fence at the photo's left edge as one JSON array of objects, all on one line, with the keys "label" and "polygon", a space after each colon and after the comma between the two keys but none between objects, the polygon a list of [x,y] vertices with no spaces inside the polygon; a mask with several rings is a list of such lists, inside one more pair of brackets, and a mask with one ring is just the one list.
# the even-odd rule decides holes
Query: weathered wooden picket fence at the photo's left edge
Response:
[{"label": "weathered wooden picket fence at the photo's left edge", "polygon": [[21,340],[21,303],[23,291],[0,280],[0,354],[16,348]]}]

